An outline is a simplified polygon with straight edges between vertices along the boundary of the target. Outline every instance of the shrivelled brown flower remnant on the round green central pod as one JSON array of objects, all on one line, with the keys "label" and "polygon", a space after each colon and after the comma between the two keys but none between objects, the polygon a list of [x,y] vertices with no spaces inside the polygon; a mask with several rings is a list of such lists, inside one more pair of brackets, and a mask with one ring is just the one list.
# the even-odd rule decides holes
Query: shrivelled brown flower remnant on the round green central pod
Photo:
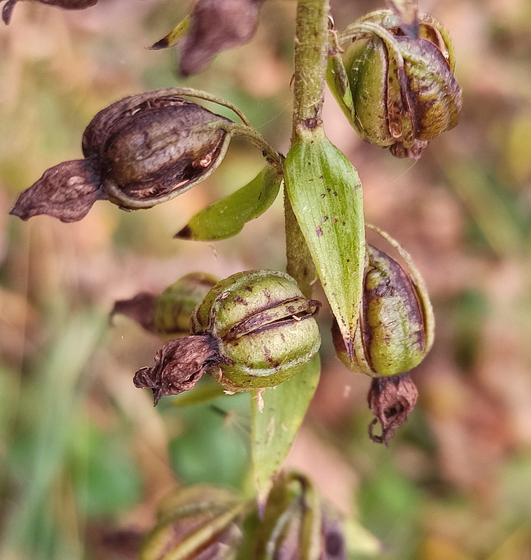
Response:
[{"label": "shrivelled brown flower remnant on the round green central pod", "polygon": [[188,391],[219,360],[212,335],[191,335],[167,342],[155,356],[153,367],[142,367],[133,378],[138,388],[151,388],[156,405],[163,395]]}]

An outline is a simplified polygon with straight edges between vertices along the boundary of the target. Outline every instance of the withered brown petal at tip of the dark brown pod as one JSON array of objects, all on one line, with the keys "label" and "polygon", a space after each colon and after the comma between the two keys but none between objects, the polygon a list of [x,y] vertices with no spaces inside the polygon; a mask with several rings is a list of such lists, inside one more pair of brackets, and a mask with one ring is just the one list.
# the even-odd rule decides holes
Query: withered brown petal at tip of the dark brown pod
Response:
[{"label": "withered brown petal at tip of the dark brown pod", "polygon": [[9,214],[22,220],[47,214],[62,222],[76,222],[104,197],[91,160],[74,160],[47,169],[39,181],[20,194]]}]

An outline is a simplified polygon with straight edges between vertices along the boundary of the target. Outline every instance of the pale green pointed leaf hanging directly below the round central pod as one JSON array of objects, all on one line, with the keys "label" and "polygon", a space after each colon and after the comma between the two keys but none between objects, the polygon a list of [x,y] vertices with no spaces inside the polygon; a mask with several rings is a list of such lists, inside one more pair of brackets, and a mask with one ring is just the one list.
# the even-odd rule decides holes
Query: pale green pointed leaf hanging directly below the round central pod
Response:
[{"label": "pale green pointed leaf hanging directly below the round central pod", "polygon": [[317,388],[319,355],[305,364],[295,377],[251,399],[251,454],[258,503],[265,503],[272,477],[286,458]]}]

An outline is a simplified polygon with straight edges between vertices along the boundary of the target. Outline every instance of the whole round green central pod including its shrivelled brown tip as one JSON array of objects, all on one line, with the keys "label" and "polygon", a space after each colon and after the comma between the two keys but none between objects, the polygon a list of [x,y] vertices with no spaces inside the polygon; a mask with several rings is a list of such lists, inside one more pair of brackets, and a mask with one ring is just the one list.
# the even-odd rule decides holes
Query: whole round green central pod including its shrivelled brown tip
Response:
[{"label": "whole round green central pod including its shrivelled brown tip", "polygon": [[154,367],[135,374],[155,402],[208,373],[228,391],[275,386],[298,373],[321,344],[315,313],[284,272],[239,272],[216,283],[191,318],[192,335],[167,342]]}]

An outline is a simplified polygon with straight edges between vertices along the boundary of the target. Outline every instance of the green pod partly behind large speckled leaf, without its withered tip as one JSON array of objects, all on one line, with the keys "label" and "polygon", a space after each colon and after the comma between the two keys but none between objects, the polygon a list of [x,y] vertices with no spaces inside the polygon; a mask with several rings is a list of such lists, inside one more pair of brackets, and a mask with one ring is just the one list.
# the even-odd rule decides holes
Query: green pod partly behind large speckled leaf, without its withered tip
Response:
[{"label": "green pod partly behind large speckled leaf, without its withered tip", "polygon": [[349,359],[337,325],[333,342],[338,357],[352,371],[371,377],[408,372],[432,346],[434,319],[424,281],[408,253],[387,234],[406,260],[406,268],[383,251],[367,246],[364,289]]}]

